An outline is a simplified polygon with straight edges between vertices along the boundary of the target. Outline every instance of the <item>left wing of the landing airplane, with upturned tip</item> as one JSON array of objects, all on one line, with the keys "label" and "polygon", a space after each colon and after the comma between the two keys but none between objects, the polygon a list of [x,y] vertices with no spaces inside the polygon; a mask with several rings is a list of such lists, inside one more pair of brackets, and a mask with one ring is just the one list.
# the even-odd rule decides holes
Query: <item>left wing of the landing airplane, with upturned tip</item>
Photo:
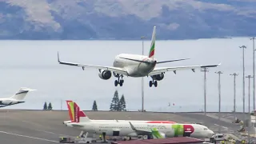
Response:
[{"label": "left wing of the landing airplane, with upturned tip", "polygon": [[115,72],[116,74],[123,74],[123,75],[128,76],[127,71],[122,70],[121,68],[112,67],[112,66],[95,66],[95,65],[72,63],[72,62],[61,62],[59,60],[59,56],[58,56],[58,63],[62,64],[62,65],[68,65],[68,66],[80,66],[80,67],[82,67],[82,70],[84,70],[85,67],[86,68],[94,68],[94,69],[98,69],[98,70],[110,70],[112,72]]}]

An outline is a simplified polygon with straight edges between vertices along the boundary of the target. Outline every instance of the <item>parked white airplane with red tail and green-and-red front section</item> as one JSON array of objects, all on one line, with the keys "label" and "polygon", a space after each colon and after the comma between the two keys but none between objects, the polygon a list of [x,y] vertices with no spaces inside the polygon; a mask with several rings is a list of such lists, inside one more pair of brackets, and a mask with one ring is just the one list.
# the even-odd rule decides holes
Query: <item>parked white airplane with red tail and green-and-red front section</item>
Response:
[{"label": "parked white airplane with red tail and green-and-red front section", "polygon": [[206,126],[199,124],[178,123],[144,123],[144,122],[94,122],[78,106],[74,108],[74,122],[66,126],[85,130],[90,134],[108,136],[138,137],[147,135],[151,138],[171,138],[189,136],[193,138],[207,138],[214,134]]}]

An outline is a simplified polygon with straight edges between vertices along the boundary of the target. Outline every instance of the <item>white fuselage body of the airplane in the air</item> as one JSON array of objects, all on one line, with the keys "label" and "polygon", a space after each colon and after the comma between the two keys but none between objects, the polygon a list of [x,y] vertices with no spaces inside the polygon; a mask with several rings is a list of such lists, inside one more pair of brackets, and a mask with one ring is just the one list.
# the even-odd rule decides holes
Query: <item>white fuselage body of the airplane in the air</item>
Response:
[{"label": "white fuselage body of the airplane in the air", "polygon": [[[127,59],[125,59],[127,58]],[[138,61],[145,62],[136,62],[134,59]],[[144,77],[149,74],[152,70],[154,70],[154,66],[156,65],[156,60],[153,58],[146,57],[144,55],[138,54],[118,54],[114,58],[114,67],[122,68],[127,71],[130,77]]]}]

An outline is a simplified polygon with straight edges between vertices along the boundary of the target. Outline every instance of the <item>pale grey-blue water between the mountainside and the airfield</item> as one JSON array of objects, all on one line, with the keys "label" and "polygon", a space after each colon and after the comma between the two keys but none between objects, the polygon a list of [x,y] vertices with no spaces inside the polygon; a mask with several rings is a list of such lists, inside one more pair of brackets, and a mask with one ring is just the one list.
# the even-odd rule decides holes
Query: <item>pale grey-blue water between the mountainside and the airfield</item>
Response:
[{"label": "pale grey-blue water between the mountainside and the airfield", "polygon": [[[253,44],[250,38],[199,39],[183,41],[157,41],[155,58],[158,61],[191,58],[182,62],[169,62],[158,66],[191,66],[218,64],[207,75],[206,110],[218,111],[218,74],[222,70],[222,111],[233,110],[234,78],[238,73],[237,110],[242,111],[242,49],[245,50],[246,75],[252,75]],[[65,62],[79,62],[112,66],[120,53],[142,54],[141,41],[0,41],[0,97],[9,97],[22,86],[36,89],[30,92],[25,103],[2,109],[41,110],[44,102],[51,102],[54,110],[66,110],[65,100],[78,102],[82,110],[91,110],[94,100],[98,110],[109,110],[114,91],[124,94],[127,110],[139,110],[141,102],[141,78],[124,77],[122,87],[114,86],[112,77],[102,80],[98,70],[82,70],[77,66],[58,64],[57,52]],[[150,41],[144,42],[148,55]],[[145,109],[148,111],[198,111],[203,110],[203,73],[200,69],[167,72],[158,87],[149,87],[151,78],[144,78]],[[251,80],[252,86],[252,80]],[[251,87],[251,104],[253,106]],[[246,78],[246,111],[248,110],[248,79]],[[169,106],[170,104],[170,106]],[[252,108],[251,108],[252,110]]]}]

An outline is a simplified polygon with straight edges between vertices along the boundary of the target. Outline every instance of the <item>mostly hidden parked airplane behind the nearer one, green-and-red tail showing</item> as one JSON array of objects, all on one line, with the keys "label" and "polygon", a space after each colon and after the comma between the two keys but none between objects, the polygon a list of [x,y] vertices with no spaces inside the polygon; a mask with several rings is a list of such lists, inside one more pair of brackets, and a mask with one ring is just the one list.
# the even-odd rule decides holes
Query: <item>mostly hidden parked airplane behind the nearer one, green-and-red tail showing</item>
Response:
[{"label": "mostly hidden parked airplane behind the nearer one, green-and-red tail showing", "polygon": [[[80,110],[80,107],[77,105],[77,103],[67,100],[66,101],[66,106],[68,107],[69,110],[69,115],[70,115],[70,121],[64,121],[63,124],[66,125],[67,123],[74,122],[74,111],[75,108],[78,107]],[[139,120],[94,120],[91,119],[91,122],[144,122],[144,123],[176,123],[176,122],[171,122],[171,121],[139,121]]]}]

